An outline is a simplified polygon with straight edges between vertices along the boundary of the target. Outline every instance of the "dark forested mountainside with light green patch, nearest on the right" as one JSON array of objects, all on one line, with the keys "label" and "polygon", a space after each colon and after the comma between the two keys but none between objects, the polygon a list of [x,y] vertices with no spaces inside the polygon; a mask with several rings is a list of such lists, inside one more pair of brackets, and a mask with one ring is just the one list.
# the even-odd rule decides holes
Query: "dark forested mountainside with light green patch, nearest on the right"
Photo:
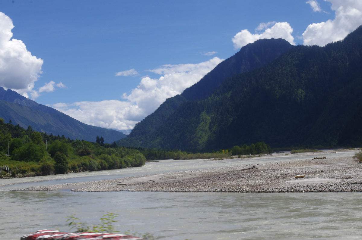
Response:
[{"label": "dark forested mountainside with light green patch, nearest on the right", "polygon": [[361,146],[361,66],[362,27],[324,47],[294,46],[264,67],[227,78],[209,97],[180,104],[147,138],[132,132],[119,142],[198,151],[258,141]]}]

